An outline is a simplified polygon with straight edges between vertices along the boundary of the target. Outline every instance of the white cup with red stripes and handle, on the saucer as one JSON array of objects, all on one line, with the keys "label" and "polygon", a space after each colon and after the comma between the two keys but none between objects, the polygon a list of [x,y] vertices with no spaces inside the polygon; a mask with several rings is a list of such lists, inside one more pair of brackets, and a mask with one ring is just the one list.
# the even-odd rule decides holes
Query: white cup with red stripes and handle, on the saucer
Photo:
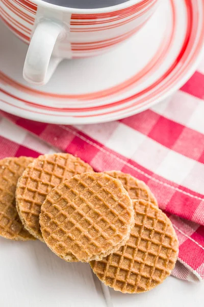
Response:
[{"label": "white cup with red stripes and handle, on the saucer", "polygon": [[[102,0],[101,0],[102,1]],[[23,77],[43,85],[64,58],[99,55],[136,33],[159,0],[129,0],[99,9],[74,9],[41,0],[1,0],[1,17],[30,44]]]}]

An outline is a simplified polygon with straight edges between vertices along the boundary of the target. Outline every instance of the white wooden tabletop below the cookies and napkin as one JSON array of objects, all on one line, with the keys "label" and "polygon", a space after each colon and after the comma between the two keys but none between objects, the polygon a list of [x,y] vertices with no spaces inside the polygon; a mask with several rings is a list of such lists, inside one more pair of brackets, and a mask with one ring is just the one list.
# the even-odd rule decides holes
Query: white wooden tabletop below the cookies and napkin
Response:
[{"label": "white wooden tabletop below the cookies and napkin", "polygon": [[203,307],[203,300],[204,283],[173,277],[148,293],[121,294],[102,287],[88,264],[69,264],[39,241],[0,238],[1,307]]}]

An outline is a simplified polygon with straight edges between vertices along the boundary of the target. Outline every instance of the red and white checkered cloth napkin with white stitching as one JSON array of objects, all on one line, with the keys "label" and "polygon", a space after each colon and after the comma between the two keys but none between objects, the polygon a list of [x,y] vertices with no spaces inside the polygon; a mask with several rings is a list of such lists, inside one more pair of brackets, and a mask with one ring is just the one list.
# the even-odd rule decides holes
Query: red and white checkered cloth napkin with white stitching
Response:
[{"label": "red and white checkered cloth napkin with white stitching", "polygon": [[173,97],[120,121],[64,126],[2,112],[0,158],[67,151],[90,163],[96,171],[117,169],[145,181],[179,237],[179,261],[172,275],[202,280],[204,61],[201,65],[201,70]]}]

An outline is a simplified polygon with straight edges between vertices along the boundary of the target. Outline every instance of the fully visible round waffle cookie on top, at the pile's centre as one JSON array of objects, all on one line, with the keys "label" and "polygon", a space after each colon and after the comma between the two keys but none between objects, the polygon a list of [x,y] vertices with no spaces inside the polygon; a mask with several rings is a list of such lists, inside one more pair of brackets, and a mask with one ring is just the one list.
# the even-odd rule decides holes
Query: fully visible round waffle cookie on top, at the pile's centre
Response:
[{"label": "fully visible round waffle cookie on top, at the pile's centre", "polygon": [[119,180],[85,173],[47,195],[40,225],[47,246],[64,260],[100,260],[129,239],[133,203]]}]

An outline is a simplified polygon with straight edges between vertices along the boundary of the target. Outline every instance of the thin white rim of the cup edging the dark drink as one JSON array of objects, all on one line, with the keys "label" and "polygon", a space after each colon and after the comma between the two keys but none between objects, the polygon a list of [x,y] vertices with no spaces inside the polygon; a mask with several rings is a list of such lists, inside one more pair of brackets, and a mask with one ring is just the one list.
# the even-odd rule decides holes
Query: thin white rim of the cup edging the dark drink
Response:
[{"label": "thin white rim of the cup edging the dark drink", "polygon": [[[57,10],[57,11],[63,11],[63,12],[67,12],[67,13],[72,13],[72,14],[101,14],[101,13],[111,13],[111,12],[115,12],[115,11],[119,11],[122,9],[126,9],[131,7],[132,5],[138,4],[140,2],[142,2],[143,0],[128,0],[126,2],[123,2],[121,4],[117,4],[114,6],[110,6],[110,7],[105,7],[105,8],[96,8],[96,9],[77,9],[77,8],[68,8],[68,7],[63,7],[63,6],[59,6],[56,4],[51,4],[48,2],[45,2],[43,0],[32,0],[32,3],[39,5],[41,7],[44,8],[49,8],[49,9],[53,9],[53,10]],[[151,1],[151,0],[149,0]]]}]

